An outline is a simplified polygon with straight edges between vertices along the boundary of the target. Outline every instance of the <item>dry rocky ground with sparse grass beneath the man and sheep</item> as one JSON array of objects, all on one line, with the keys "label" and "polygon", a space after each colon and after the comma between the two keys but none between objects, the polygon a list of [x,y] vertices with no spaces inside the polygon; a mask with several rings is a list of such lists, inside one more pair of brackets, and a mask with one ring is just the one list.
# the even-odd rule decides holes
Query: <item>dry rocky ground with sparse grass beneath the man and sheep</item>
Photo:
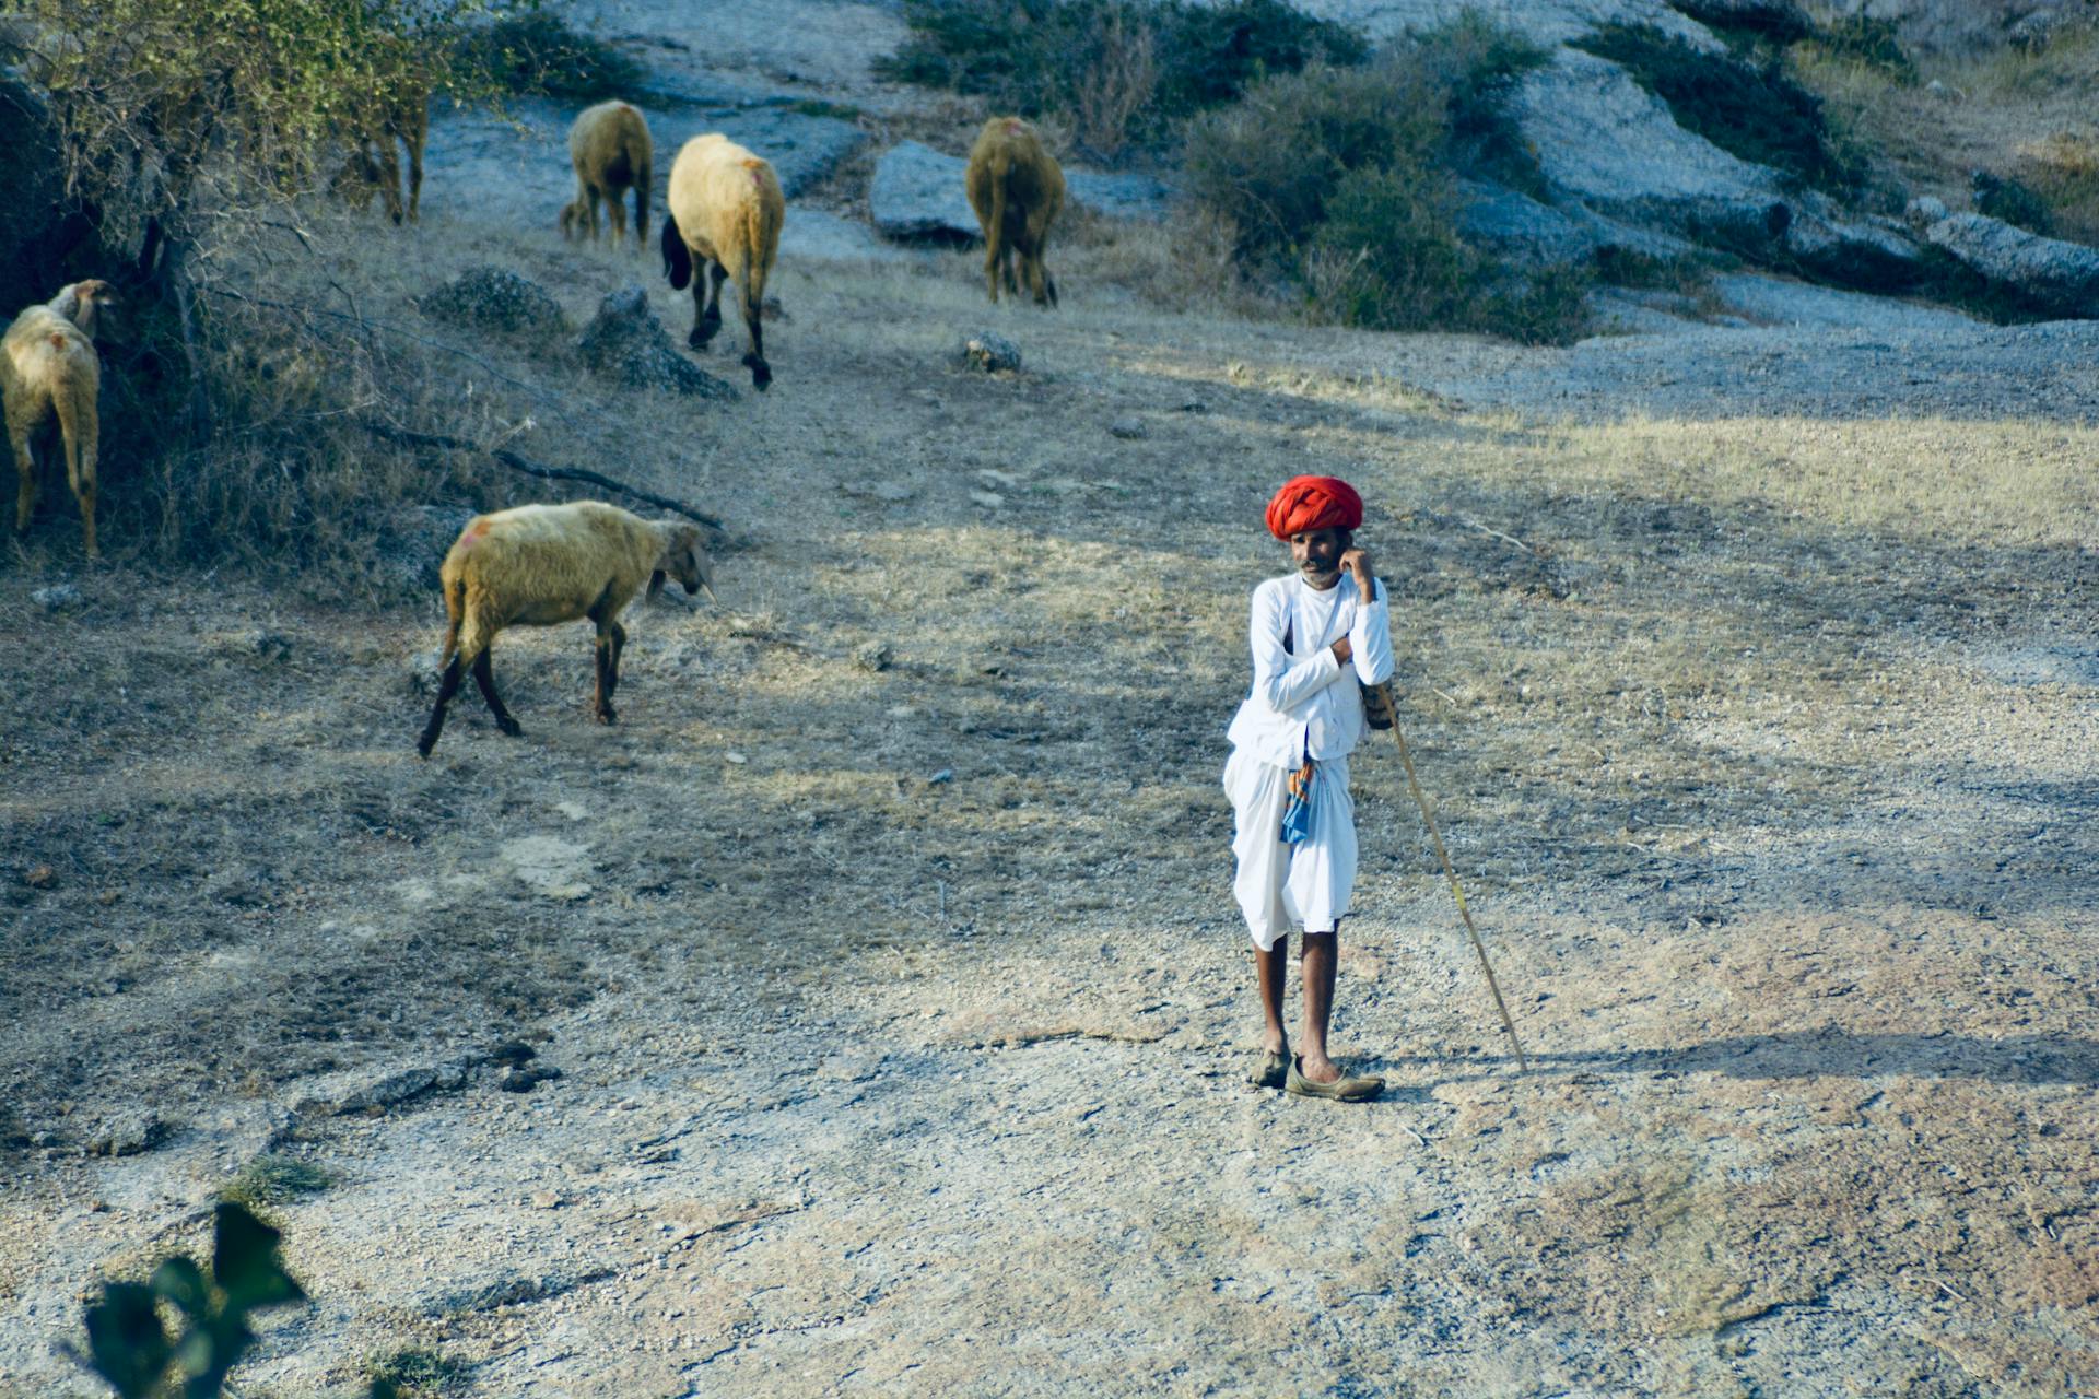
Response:
[{"label": "dry rocky ground with sparse grass beneath the man and sheep", "polygon": [[[756,8],[602,13],[722,111],[888,101],[890,10]],[[682,333],[489,141],[338,268],[372,315],[497,262]],[[434,598],[78,573],[57,518],[0,564],[0,1395],[97,1393],[80,1298],[258,1154],[330,1183],[243,1395],[2099,1393],[2099,327],[1765,279],[1524,350],[1098,250],[991,310],[812,189],[867,241],[789,243],[766,396],[472,340],[537,455],[728,520],[617,728],[581,629],[500,644],[523,740],[468,701],[422,763]],[[1299,470],[1373,501],[1528,1072],[1373,749],[1339,1049],[1394,1093],[1243,1082],[1217,770]]]}]

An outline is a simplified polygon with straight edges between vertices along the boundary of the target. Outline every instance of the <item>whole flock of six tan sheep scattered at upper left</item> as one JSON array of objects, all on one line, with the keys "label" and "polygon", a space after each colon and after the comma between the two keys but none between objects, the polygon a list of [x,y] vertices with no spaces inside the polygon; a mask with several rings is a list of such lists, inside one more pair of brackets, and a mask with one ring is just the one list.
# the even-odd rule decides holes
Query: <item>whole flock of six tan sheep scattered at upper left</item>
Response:
[{"label": "whole flock of six tan sheep scattered at upper left", "polygon": [[[414,94],[384,111],[367,113],[351,141],[351,157],[334,189],[359,208],[372,191],[384,197],[395,222],[416,222],[422,203],[422,149],[428,134],[428,94]],[[407,149],[407,195],[395,145]],[[600,212],[613,241],[626,241],[626,195],[634,193],[636,245],[649,237],[649,187],[655,145],[649,122],[630,103],[588,107],[569,130],[575,199],[560,210],[563,237],[600,237]],[[1064,172],[1035,128],[1020,117],[984,122],[970,151],[966,174],[970,208],[984,231],[984,289],[1018,296],[1022,283],[1039,306],[1056,306],[1056,281],[1043,264],[1050,224],[1064,206]],[[693,136],[672,162],[663,220],[663,273],[672,287],[693,287],[693,333],[705,346],[722,327],[722,283],[735,281],[749,336],[743,365],[764,390],[772,367],[764,357],[760,306],[766,277],[779,254],[787,201],[772,166],[722,134]],[[1018,258],[1018,275],[1014,262]],[[15,529],[25,533],[36,508],[38,464],[34,440],[59,438],[65,478],[80,503],[88,558],[94,545],[94,457],[99,440],[97,394],[101,361],[97,323],[115,304],[107,281],[78,281],[50,302],[29,306],[0,340],[0,392],[6,434],[15,449],[19,493]],[[46,445],[42,455],[50,455]],[[646,585],[649,596],[676,579],[686,594],[714,596],[714,566],[693,524],[659,524],[615,505],[516,505],[476,516],[453,541],[441,568],[449,627],[441,652],[437,705],[416,740],[424,757],[445,728],[445,711],[472,671],[495,726],[516,736],[518,722],[495,692],[489,646],[504,627],[544,627],[588,617],[596,627],[598,722],[615,719],[619,654],[628,633],[619,612]]]}]

